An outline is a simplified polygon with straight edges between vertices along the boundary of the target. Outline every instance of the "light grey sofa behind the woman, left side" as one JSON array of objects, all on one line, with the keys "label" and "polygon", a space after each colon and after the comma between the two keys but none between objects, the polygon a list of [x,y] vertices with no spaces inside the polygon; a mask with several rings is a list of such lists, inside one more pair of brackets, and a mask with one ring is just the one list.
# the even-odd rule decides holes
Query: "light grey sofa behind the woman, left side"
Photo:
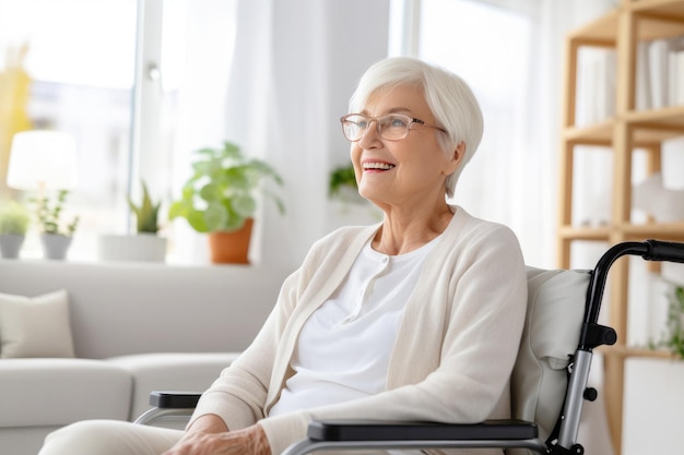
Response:
[{"label": "light grey sofa behind the woman, left side", "polygon": [[132,420],[152,390],[207,388],[251,342],[286,274],[0,260],[0,294],[67,290],[75,354],[0,358],[0,452],[34,455],[47,433],[78,420]]}]

